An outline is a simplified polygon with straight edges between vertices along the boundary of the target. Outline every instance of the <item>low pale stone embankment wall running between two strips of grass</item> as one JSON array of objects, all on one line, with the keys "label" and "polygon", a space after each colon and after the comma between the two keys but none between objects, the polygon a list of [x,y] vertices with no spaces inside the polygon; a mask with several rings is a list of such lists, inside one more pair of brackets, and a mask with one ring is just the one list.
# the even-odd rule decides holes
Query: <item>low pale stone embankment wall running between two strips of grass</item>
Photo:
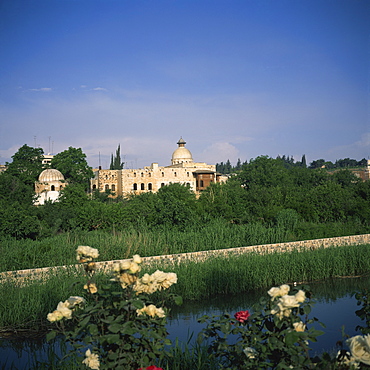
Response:
[{"label": "low pale stone embankment wall running between two strips of grass", "polygon": [[[178,265],[185,261],[204,261],[211,257],[227,256],[230,254],[242,255],[247,253],[283,253],[291,252],[293,250],[315,250],[319,248],[328,247],[341,247],[350,245],[361,245],[370,244],[370,234],[363,235],[351,235],[351,236],[341,236],[335,238],[325,238],[325,239],[313,239],[313,240],[303,240],[297,242],[287,242],[287,243],[276,243],[276,244],[262,244],[253,245],[248,247],[238,247],[238,248],[228,248],[228,249],[217,249],[201,252],[191,252],[191,253],[179,253],[179,254],[167,254],[162,256],[152,256],[143,257],[143,263],[146,265],[150,264],[165,264],[165,265]],[[126,260],[113,260],[113,261],[103,261],[96,262],[97,271],[109,271],[114,263],[123,262]],[[55,266],[55,267],[44,267],[37,269],[27,269],[27,270],[17,270],[17,271],[6,271],[0,273],[0,282],[4,280],[17,281],[23,283],[25,281],[31,281],[32,279],[42,279],[47,278],[48,275],[56,273],[60,270],[76,269],[82,271],[81,265],[69,265],[69,266]]]}]

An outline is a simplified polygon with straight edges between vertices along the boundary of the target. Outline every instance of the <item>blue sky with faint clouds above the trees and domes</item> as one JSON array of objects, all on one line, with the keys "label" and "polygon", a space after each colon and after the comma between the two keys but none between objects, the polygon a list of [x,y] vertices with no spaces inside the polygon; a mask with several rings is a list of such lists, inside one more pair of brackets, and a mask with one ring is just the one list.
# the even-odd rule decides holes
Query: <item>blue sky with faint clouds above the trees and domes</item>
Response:
[{"label": "blue sky with faint clouds above the trees and domes", "polygon": [[367,0],[0,0],[0,51],[1,164],[370,156]]}]

